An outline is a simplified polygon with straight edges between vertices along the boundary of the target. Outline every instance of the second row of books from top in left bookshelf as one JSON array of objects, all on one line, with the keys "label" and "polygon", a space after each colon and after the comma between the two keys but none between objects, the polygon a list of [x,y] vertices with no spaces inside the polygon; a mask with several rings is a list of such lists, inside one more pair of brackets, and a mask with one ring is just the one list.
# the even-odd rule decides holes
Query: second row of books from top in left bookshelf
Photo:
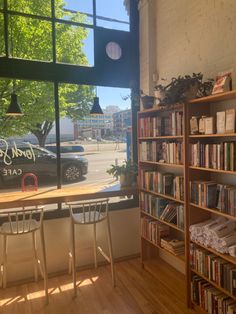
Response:
[{"label": "second row of books from top in left bookshelf", "polygon": [[139,143],[140,161],[183,164],[184,152],[182,142],[144,141]]}]

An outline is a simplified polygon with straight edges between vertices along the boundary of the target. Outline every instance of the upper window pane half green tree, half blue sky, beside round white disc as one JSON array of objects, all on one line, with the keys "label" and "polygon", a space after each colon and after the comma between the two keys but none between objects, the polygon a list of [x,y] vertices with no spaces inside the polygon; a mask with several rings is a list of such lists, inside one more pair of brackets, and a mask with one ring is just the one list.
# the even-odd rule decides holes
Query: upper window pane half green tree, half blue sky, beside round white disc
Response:
[{"label": "upper window pane half green tree, half blue sky, beside round white disc", "polygon": [[57,23],[56,52],[57,62],[93,66],[93,30]]}]

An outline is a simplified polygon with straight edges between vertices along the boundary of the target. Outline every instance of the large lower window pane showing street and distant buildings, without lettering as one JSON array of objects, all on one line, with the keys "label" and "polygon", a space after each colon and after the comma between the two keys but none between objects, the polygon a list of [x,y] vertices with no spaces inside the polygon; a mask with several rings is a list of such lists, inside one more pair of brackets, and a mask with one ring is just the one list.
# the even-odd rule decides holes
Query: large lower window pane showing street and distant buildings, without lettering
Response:
[{"label": "large lower window pane showing street and distant buildings, without lettering", "polygon": [[[75,159],[77,156],[81,159],[82,171],[82,175],[76,178],[76,173],[79,173],[76,167],[71,167],[70,170],[64,169],[64,185],[72,188],[94,186],[102,189],[118,183],[107,173],[107,169],[111,164],[118,162],[121,165],[129,158],[126,139],[128,129],[131,127],[131,110],[127,109],[130,108],[129,98],[127,97],[127,101],[122,98],[129,94],[129,89],[98,87],[97,96],[104,114],[91,116],[89,107],[92,106],[96,95],[95,88],[60,84],[62,155],[64,158],[70,156]],[[114,125],[113,116],[116,112],[120,112],[118,125]]]}]

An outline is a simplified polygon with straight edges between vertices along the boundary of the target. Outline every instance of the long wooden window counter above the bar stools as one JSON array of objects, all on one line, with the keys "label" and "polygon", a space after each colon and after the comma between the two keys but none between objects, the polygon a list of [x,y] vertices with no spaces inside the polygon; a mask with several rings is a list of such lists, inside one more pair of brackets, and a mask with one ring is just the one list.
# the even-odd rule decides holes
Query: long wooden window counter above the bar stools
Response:
[{"label": "long wooden window counter above the bar stools", "polygon": [[119,184],[106,188],[84,185],[81,187],[63,187],[61,189],[39,189],[33,192],[8,192],[0,193],[0,209],[129,196],[133,194],[137,194],[137,187],[120,188]]}]

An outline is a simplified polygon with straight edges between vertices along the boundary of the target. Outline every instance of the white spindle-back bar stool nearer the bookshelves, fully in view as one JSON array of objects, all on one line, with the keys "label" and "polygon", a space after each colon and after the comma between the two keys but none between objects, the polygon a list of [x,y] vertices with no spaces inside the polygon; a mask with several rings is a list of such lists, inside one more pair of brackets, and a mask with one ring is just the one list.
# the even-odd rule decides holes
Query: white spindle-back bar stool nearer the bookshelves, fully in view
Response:
[{"label": "white spindle-back bar stool nearer the bookshelves, fully in view", "polygon": [[[97,268],[97,252],[111,264],[112,284],[115,286],[114,262],[112,253],[112,241],[110,221],[108,214],[108,199],[101,199],[90,202],[70,202],[67,203],[70,209],[71,217],[71,252],[69,252],[69,273],[72,270],[74,296],[77,295],[76,289],[76,258],[75,258],[75,225],[93,225],[93,250],[94,266]],[[109,256],[103,252],[100,246],[97,246],[96,226],[98,223],[106,221]]]}]

